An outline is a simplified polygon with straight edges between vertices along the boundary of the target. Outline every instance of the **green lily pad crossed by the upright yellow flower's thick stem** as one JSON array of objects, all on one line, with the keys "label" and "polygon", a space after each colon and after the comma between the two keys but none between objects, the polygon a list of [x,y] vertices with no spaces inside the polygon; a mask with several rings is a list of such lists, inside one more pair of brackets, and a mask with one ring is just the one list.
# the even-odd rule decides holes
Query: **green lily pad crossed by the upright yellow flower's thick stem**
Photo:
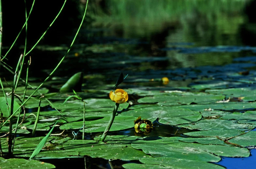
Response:
[{"label": "green lily pad crossed by the upright yellow flower's thick stem", "polygon": [[[85,132],[104,132],[109,122],[110,117],[104,117],[103,119],[94,121],[85,121]],[[136,117],[132,116],[116,116],[111,126],[110,131],[124,130],[134,127],[134,120]],[[60,126],[60,129],[80,129],[83,126],[83,122],[71,122]]]}]

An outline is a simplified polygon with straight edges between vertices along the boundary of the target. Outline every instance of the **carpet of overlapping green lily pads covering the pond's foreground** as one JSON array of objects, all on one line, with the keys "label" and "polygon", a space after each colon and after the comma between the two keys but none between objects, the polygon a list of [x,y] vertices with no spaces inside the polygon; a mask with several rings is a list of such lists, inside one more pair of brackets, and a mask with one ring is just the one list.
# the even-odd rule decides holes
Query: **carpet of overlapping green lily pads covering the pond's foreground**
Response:
[{"label": "carpet of overlapping green lily pads covering the pond's foreground", "polygon": [[[187,86],[173,87],[173,83],[177,82],[170,75],[168,76],[169,84],[157,83],[157,86],[131,86],[125,89],[127,93],[120,92],[120,96],[122,95],[124,99],[116,99],[114,92],[109,93],[113,85],[99,87],[97,90],[86,89],[83,92],[76,92],[82,100],[70,98],[65,103],[64,100],[72,93],[58,93],[49,98],[52,104],[42,100],[37,131],[49,131],[50,126],[57,120],[59,120],[57,129],[60,132],[65,131],[60,135],[61,137],[50,136],[36,158],[69,158],[87,155],[107,160],[141,162],[124,164],[124,168],[188,168],[188,166],[190,168],[224,168],[209,162],[219,162],[221,157],[248,157],[249,148],[256,146],[256,132],[253,130],[256,127],[254,91],[256,86],[247,83],[255,75],[251,72],[248,78],[247,75],[238,72],[247,66],[238,68],[236,81],[233,80],[234,73],[226,74],[229,79],[198,80],[199,77],[204,76],[208,68],[195,68],[194,70],[200,70],[194,71],[197,79]],[[230,66],[226,67],[232,69]],[[212,68],[208,71],[210,70],[214,71]],[[183,70],[183,73],[187,72],[188,70]],[[138,73],[137,77],[140,76],[142,74]],[[161,73],[158,75],[155,73],[152,76],[158,76],[159,82],[161,77],[164,77]],[[217,73],[214,76],[217,77]],[[150,81],[145,77],[135,82],[133,80],[135,75],[131,73],[124,85],[153,83],[152,78]],[[154,81],[155,79],[154,77]],[[244,79],[247,80],[244,81]],[[130,104],[126,102],[128,100],[128,97],[125,97],[126,94],[129,95]],[[121,100],[124,103],[120,104],[109,131],[110,136],[107,136],[103,143],[99,143],[100,135],[103,134],[113,111],[114,102],[109,99],[109,95],[112,99],[115,98],[114,102]],[[0,98],[1,107],[6,106],[5,101],[5,98]],[[83,126],[83,101],[85,102],[85,134],[93,136],[88,140],[73,140],[70,132],[74,130],[78,132]],[[15,105],[19,107],[18,100]],[[38,99],[31,99],[25,104],[25,110],[28,111],[23,124],[17,130],[18,134],[31,134],[36,110],[28,108],[37,106]],[[8,111],[3,114],[2,118],[8,117]],[[137,119],[138,116],[144,119]],[[145,130],[142,131],[143,135],[136,136],[134,130],[136,124],[138,125],[136,129]],[[158,125],[174,126],[177,130],[186,128],[190,132],[182,134],[176,134],[178,133],[176,132],[171,135],[172,137],[160,134],[151,136],[147,129],[152,129],[153,133],[158,131]],[[118,132],[128,130],[132,130],[134,135],[118,135]],[[6,125],[2,127],[1,134],[7,132]],[[34,138],[27,136],[16,138],[14,155],[30,157],[42,138],[39,135]],[[1,144],[3,152],[7,152],[8,143],[2,139]]]}]

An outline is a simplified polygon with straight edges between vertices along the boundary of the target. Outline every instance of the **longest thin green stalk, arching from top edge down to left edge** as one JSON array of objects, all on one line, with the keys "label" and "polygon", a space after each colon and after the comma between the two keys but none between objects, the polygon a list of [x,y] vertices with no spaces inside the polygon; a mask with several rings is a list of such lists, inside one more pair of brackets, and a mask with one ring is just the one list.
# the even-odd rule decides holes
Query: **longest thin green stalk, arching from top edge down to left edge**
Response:
[{"label": "longest thin green stalk, arching from top edge down to left edge", "polygon": [[8,122],[8,120],[10,120],[10,119],[12,118],[13,115],[15,115],[15,114],[18,112],[19,109],[21,109],[21,107],[28,101],[28,99],[30,99],[30,98],[38,91],[38,89],[53,75],[53,73],[57,70],[57,68],[58,68],[58,67],[60,66],[60,64],[62,63],[62,61],[66,58],[68,52],[70,51],[72,45],[74,44],[74,42],[75,42],[75,40],[76,40],[76,37],[77,37],[77,35],[78,35],[78,32],[79,32],[80,29],[81,29],[81,26],[82,26],[82,23],[83,23],[83,20],[84,20],[84,18],[85,18],[85,14],[86,14],[87,4],[88,4],[88,0],[87,0],[87,3],[86,3],[86,7],[85,7],[85,11],[84,11],[84,15],[83,15],[82,22],[81,22],[81,24],[80,24],[80,26],[79,26],[79,28],[78,28],[78,30],[77,30],[77,32],[76,32],[76,35],[75,35],[75,37],[74,37],[74,39],[73,39],[73,41],[72,41],[72,43],[71,43],[71,45],[70,45],[70,47],[69,47],[67,53],[66,53],[66,54],[64,55],[64,57],[60,60],[60,62],[59,62],[58,65],[55,67],[55,69],[53,70],[53,72],[51,72],[51,74],[43,81],[43,83],[38,86],[38,88],[24,101],[23,104],[20,105],[20,107],[19,107],[15,112],[13,112],[13,114],[2,124],[2,126],[0,127],[0,129]]}]

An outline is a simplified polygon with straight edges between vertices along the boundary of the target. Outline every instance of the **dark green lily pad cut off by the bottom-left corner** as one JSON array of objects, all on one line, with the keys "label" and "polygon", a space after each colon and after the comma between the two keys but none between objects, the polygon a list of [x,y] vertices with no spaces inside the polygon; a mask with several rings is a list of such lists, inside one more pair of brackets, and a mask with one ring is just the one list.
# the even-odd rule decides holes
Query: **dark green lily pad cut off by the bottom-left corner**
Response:
[{"label": "dark green lily pad cut off by the bottom-left corner", "polygon": [[1,169],[9,169],[11,168],[19,168],[19,169],[27,169],[27,168],[55,168],[53,164],[46,162],[39,162],[37,160],[25,160],[25,159],[4,159],[0,157],[0,166]]}]

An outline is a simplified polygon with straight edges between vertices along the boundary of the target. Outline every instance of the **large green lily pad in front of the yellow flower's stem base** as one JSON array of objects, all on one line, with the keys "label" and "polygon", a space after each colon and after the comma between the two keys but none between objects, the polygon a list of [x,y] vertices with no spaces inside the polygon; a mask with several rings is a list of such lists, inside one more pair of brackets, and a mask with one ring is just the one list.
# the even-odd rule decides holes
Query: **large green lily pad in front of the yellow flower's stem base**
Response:
[{"label": "large green lily pad in front of the yellow flower's stem base", "polygon": [[[114,124],[114,123],[113,123]],[[131,142],[138,136],[107,136],[104,143],[93,140],[69,140],[63,144],[65,150],[78,151],[80,156],[100,157],[104,159],[138,160],[149,158],[143,151],[133,149]]]}]

